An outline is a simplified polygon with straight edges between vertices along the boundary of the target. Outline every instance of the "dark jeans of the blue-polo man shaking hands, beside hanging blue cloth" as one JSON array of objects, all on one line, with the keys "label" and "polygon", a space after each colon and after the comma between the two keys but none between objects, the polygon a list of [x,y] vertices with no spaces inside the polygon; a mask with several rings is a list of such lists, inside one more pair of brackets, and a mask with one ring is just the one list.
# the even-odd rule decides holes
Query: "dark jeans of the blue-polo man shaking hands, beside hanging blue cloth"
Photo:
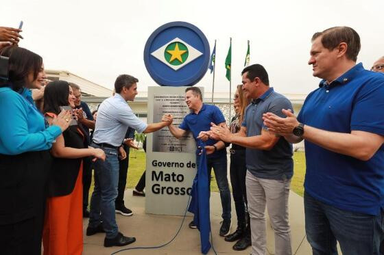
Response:
[{"label": "dark jeans of the blue-polo man shaking hands, beside hanging blue cloth", "polygon": [[[199,162],[199,160],[197,160],[197,162]],[[230,219],[230,189],[227,178],[227,157],[225,155],[214,159],[207,158],[206,163],[208,176],[211,176],[212,168],[213,172],[215,172],[217,187],[219,187],[220,191],[221,207],[223,208],[221,217],[223,217],[223,219]],[[211,183],[211,178],[209,178],[209,183]]]}]

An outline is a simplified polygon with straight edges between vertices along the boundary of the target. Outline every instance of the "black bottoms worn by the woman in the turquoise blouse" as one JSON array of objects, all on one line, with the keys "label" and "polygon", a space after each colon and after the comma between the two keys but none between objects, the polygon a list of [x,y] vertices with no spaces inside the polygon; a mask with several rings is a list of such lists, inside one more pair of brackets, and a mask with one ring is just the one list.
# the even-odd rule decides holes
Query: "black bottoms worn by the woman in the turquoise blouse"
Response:
[{"label": "black bottoms worn by the woman in the turquoise blouse", "polygon": [[41,254],[49,150],[0,155],[0,254]]}]

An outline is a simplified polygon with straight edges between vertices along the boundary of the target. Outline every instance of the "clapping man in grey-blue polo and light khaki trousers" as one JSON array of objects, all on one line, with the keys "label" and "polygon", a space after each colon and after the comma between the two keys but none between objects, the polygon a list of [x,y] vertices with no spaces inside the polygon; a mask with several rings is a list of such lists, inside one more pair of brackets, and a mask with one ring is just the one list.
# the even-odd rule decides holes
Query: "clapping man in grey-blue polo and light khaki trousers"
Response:
[{"label": "clapping man in grey-blue polo and light khaki trousers", "polygon": [[253,98],[245,109],[239,133],[213,125],[211,137],[246,147],[248,211],[252,238],[252,254],[266,253],[265,206],[274,229],[275,254],[291,254],[291,228],[288,219],[289,185],[293,175],[292,144],[267,131],[263,113],[283,116],[282,109],[292,109],[291,102],[269,87],[267,71],[260,64],[244,68],[243,92]]}]

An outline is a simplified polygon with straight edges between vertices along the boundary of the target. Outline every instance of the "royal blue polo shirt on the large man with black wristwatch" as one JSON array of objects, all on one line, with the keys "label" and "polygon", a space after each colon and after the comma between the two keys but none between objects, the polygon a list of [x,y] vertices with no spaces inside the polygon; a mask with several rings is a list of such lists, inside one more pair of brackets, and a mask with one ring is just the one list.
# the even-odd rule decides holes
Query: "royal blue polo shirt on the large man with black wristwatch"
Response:
[{"label": "royal blue polo shirt on the large man with black wristwatch", "polygon": [[[357,64],[304,101],[298,121],[331,132],[384,135],[384,75]],[[305,131],[304,131],[305,132]],[[356,148],[359,150],[359,148]],[[384,206],[384,146],[368,161],[305,141],[309,195],[339,209],[377,215]]]}]

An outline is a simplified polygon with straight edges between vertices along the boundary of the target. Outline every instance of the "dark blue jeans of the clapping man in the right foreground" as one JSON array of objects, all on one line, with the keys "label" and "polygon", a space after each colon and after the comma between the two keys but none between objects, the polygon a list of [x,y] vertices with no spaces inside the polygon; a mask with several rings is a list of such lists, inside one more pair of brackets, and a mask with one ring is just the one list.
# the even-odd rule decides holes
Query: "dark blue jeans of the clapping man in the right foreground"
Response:
[{"label": "dark blue jeans of the clapping man in the right foreground", "polygon": [[[325,188],[325,187],[324,187]],[[305,231],[313,255],[379,255],[383,239],[383,211],[367,215],[337,209],[304,193]]]}]

